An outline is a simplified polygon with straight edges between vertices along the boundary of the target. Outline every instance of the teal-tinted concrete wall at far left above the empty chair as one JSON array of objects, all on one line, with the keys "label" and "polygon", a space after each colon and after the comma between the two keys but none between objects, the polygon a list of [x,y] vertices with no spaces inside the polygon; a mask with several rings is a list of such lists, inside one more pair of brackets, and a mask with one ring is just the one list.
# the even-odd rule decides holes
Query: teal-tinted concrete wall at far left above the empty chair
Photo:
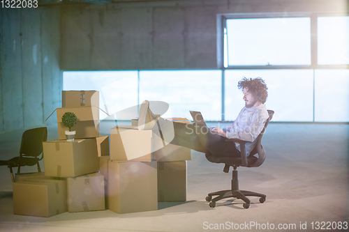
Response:
[{"label": "teal-tinted concrete wall at far left above the empty chair", "polygon": [[0,132],[50,124],[61,104],[60,9],[1,8]]}]

